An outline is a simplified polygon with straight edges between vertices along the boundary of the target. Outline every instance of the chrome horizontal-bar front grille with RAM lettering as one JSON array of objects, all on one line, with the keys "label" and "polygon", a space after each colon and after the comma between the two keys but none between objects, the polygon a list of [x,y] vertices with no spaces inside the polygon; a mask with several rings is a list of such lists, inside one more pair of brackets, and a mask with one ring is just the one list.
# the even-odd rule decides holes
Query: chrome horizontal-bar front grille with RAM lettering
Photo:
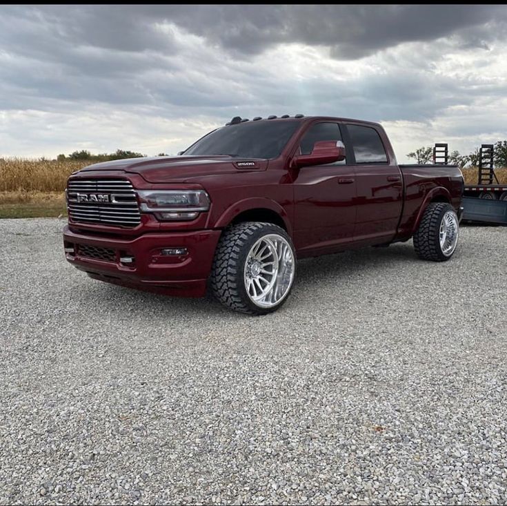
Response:
[{"label": "chrome horizontal-bar front grille with RAM lettering", "polygon": [[126,179],[70,179],[67,206],[73,222],[129,228],[141,223],[134,188]]}]

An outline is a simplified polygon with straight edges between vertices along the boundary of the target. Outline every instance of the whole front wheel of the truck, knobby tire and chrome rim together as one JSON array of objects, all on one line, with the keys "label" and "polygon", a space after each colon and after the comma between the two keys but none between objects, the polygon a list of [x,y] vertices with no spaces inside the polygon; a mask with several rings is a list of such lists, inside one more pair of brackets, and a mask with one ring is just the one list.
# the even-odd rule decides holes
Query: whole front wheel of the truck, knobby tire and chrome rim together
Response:
[{"label": "whole front wheel of the truck, knobby tire and chrome rim together", "polygon": [[295,272],[294,246],[286,231],[270,223],[246,222],[223,233],[211,286],[230,309],[263,315],[287,300]]}]

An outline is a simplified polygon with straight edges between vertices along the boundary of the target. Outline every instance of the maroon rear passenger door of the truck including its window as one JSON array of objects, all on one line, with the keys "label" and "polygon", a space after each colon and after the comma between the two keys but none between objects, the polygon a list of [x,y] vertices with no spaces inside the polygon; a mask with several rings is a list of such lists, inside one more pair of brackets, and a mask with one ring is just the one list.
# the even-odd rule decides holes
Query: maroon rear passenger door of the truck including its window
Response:
[{"label": "maroon rear passenger door of the truck including its window", "polygon": [[357,184],[354,240],[364,244],[389,242],[403,205],[403,180],[395,160],[388,159],[373,126],[345,124],[346,148],[353,157]]}]

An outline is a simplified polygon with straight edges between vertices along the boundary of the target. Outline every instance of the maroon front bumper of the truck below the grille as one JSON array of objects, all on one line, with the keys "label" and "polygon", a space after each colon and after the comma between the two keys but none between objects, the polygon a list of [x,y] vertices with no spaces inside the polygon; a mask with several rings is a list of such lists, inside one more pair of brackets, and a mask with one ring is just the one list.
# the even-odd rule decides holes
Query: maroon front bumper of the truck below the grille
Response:
[{"label": "maroon front bumper of the truck below the grille", "polygon": [[[201,297],[206,292],[219,230],[146,233],[135,238],[99,237],[63,230],[67,260],[92,278],[157,291]],[[162,249],[185,248],[182,255],[162,255]],[[132,259],[124,263],[126,257]]]}]

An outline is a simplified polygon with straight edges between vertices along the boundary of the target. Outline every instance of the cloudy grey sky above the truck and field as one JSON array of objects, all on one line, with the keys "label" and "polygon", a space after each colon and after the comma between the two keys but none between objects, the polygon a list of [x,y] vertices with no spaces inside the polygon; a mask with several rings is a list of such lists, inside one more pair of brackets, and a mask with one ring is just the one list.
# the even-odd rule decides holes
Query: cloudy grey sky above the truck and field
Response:
[{"label": "cloudy grey sky above the truck and field", "polygon": [[506,6],[0,6],[0,157],[177,153],[232,116],[507,139]]}]

